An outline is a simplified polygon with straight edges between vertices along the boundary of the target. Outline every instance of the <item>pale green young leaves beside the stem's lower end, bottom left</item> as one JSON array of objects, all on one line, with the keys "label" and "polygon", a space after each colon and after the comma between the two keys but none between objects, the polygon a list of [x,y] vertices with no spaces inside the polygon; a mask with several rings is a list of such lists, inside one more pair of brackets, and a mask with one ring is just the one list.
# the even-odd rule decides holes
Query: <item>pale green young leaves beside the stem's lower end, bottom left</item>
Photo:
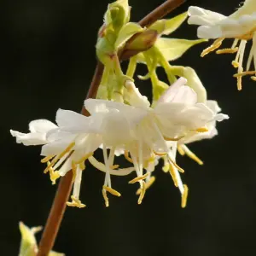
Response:
[{"label": "pale green young leaves beside the stem's lower end, bottom left", "polygon": [[[19,256],[36,256],[38,254],[38,243],[35,235],[43,229],[43,227],[28,228],[20,221],[20,252]],[[64,253],[49,252],[49,256],[65,256]]]}]

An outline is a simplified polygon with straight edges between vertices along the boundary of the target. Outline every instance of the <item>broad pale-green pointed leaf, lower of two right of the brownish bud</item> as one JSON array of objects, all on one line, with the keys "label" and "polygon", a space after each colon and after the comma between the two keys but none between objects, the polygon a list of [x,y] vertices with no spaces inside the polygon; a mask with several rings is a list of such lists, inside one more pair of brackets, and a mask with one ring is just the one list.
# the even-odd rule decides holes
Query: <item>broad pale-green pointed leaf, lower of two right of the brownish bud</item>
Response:
[{"label": "broad pale-green pointed leaf, lower of two right of the brownish bud", "polygon": [[190,47],[203,42],[207,42],[207,40],[159,38],[155,43],[155,47],[160,50],[166,61],[174,61],[181,57]]}]

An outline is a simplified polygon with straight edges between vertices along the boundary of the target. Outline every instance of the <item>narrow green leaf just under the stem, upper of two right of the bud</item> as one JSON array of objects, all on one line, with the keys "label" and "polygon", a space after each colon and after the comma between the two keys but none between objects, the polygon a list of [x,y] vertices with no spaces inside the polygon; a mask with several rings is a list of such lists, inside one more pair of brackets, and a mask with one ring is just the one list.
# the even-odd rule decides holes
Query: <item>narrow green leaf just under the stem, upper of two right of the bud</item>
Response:
[{"label": "narrow green leaf just under the stem, upper of two right of the bud", "polygon": [[177,15],[170,20],[157,20],[149,28],[156,30],[157,32],[159,32],[159,34],[169,35],[183,24],[184,20],[187,19],[187,16],[188,14],[187,12],[185,12],[181,15]]}]

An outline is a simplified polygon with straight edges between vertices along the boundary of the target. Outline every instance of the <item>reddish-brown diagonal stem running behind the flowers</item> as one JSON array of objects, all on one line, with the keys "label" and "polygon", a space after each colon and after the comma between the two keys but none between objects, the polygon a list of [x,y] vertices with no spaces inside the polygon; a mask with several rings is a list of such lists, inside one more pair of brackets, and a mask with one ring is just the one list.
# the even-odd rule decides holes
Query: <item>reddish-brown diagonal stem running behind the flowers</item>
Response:
[{"label": "reddish-brown diagonal stem running behind the flowers", "polygon": [[[167,15],[184,2],[185,0],[168,0],[161,4],[158,8],[154,9],[146,17],[144,17],[143,20],[140,20],[139,24],[141,26],[150,26],[154,23],[154,21],[159,20],[163,16]],[[102,80],[103,69],[104,67],[102,63],[98,61],[86,99],[96,97],[96,91],[98,90],[98,86]],[[81,113],[88,115],[88,112],[84,107],[82,108]],[[49,212],[49,217],[44,228],[44,233],[39,243],[37,256],[48,256],[49,251],[54,246],[55,238],[60,229],[61,221],[67,207],[66,202],[68,201],[68,197],[72,189],[72,179],[72,172],[67,172],[64,177],[61,177],[61,182],[56,191],[55,199],[53,201]]]}]

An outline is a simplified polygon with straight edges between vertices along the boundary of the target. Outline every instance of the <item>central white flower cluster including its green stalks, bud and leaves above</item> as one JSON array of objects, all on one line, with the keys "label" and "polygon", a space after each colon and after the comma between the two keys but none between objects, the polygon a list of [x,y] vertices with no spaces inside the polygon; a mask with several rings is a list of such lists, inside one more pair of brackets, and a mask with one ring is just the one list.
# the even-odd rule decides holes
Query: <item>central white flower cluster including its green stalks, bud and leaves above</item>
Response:
[{"label": "central white flower cluster including its green stalks, bud and leaves above", "polygon": [[[190,21],[194,10],[195,15],[202,12],[189,9]],[[105,173],[102,196],[108,207],[108,193],[121,195],[114,189],[111,175],[134,172],[136,177],[129,183],[138,184],[138,204],[141,204],[146,190],[154,183],[155,166],[161,161],[163,171],[171,174],[179,189],[185,207],[188,186],[182,182],[180,173],[184,171],[177,164],[176,154],[187,154],[202,165],[188,144],[216,136],[217,121],[229,118],[219,113],[217,102],[207,99],[207,90],[193,68],[172,66],[169,62],[195,44],[207,41],[163,37],[181,26],[187,13],[170,20],[157,20],[147,28],[130,22],[130,11],[127,0],[118,0],[108,5],[104,15],[96,43],[96,55],[104,65],[102,80],[96,99],[84,102],[90,116],[59,109],[56,125],[38,119],[29,124],[29,133],[10,131],[17,143],[43,145],[41,162],[46,165],[44,173],[49,173],[53,184],[67,172],[73,172],[73,195],[67,202],[70,207],[85,207],[79,194],[88,162]],[[123,73],[120,56],[131,53],[128,69]],[[239,50],[238,55],[242,54]],[[150,79],[152,102],[134,84],[137,63],[148,67],[148,73],[138,78]],[[165,70],[167,82],[158,78],[158,67]],[[97,148],[102,148],[103,162],[95,157]],[[119,156],[130,166],[116,165],[115,158]]]}]

